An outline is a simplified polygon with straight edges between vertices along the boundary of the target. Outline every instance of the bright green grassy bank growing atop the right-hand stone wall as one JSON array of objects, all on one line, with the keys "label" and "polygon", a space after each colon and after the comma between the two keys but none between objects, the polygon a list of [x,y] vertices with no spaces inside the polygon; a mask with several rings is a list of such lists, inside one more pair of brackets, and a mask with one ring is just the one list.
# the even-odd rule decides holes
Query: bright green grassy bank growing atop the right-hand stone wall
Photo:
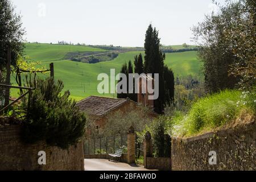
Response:
[{"label": "bright green grassy bank growing atop the right-hand stone wall", "polygon": [[188,114],[176,113],[171,131],[176,136],[191,136],[221,127],[246,111],[255,114],[255,90],[240,92],[224,90],[195,102]]}]

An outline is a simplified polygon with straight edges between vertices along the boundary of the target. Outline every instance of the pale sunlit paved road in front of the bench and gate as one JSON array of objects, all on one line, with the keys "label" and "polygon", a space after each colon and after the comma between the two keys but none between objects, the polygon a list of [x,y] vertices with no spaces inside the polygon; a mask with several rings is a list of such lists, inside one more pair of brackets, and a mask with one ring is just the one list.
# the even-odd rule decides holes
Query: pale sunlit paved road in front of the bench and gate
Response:
[{"label": "pale sunlit paved road in front of the bench and gate", "polygon": [[84,159],[85,171],[151,171],[136,164],[114,163],[108,159]]}]

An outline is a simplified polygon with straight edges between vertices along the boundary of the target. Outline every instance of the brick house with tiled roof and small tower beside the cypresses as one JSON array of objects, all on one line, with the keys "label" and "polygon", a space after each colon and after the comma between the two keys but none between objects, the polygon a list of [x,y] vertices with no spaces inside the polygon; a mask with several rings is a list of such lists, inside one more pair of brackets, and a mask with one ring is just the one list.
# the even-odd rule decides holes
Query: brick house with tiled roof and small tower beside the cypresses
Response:
[{"label": "brick house with tiled roof and small tower beside the cypresses", "polygon": [[[152,81],[154,87],[154,78],[150,76],[144,76],[147,81]],[[128,114],[131,110],[141,110],[139,105],[147,106],[152,111],[148,117],[155,118],[156,113],[154,110],[154,100],[148,100],[148,96],[152,95],[148,93],[147,83],[139,79],[138,88],[139,93],[137,94],[138,103],[130,100],[129,98],[109,98],[100,96],[90,96],[77,102],[81,111],[89,114],[90,118],[93,118],[94,126],[96,130],[100,130],[104,127],[105,123],[111,115],[114,115],[117,111],[121,111],[123,115]],[[146,93],[142,93],[142,90],[146,90]],[[143,112],[143,111],[142,111]],[[88,131],[86,131],[88,132]]]}]

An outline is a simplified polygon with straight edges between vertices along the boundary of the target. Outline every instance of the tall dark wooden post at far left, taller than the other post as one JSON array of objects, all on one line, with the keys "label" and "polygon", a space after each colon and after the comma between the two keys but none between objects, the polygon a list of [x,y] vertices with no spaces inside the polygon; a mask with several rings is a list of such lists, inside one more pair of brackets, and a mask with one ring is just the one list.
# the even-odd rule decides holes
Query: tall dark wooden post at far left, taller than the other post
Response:
[{"label": "tall dark wooden post at far left, taller than the other post", "polygon": [[[6,85],[10,85],[11,78],[11,46],[7,47],[7,63],[6,63]],[[9,105],[10,88],[5,88],[5,106]]]}]

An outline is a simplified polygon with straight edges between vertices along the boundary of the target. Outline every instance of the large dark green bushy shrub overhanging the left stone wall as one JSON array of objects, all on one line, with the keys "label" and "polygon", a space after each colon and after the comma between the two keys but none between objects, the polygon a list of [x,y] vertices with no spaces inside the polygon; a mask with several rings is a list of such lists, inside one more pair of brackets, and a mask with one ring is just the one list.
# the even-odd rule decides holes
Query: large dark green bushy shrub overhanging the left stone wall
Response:
[{"label": "large dark green bushy shrub overhanging the left stone wall", "polygon": [[[67,148],[75,144],[84,134],[85,116],[69,99],[69,92],[61,94],[62,81],[47,78],[38,79],[33,85],[36,89],[30,98],[24,123],[23,139],[28,143],[46,140],[47,144]],[[23,107],[27,107],[24,105]]]}]

